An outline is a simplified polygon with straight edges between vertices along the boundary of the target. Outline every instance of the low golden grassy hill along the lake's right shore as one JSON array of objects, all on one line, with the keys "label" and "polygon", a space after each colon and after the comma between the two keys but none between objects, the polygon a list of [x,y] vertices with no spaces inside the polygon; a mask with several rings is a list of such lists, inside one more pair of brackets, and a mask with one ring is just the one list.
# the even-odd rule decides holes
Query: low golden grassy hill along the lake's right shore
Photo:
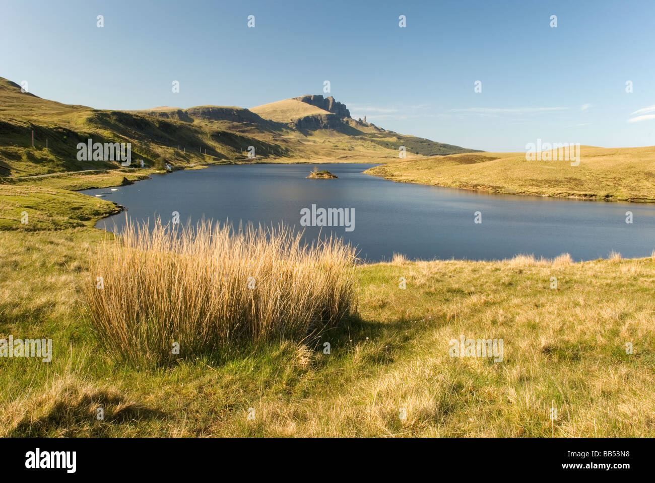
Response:
[{"label": "low golden grassy hill along the lake's right shore", "polygon": [[579,166],[565,160],[529,161],[525,152],[480,152],[405,160],[365,172],[403,183],[499,193],[655,202],[652,146],[582,146]]}]

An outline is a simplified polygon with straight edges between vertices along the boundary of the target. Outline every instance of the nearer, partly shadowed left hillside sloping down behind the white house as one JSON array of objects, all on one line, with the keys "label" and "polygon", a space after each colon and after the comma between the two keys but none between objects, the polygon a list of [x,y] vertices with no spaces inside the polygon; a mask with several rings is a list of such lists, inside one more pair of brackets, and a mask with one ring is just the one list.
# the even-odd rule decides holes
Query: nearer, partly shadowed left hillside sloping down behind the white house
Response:
[{"label": "nearer, partly shadowed left hillside sloping down behind the white house", "polygon": [[[206,113],[203,109],[196,110],[199,120],[192,124],[123,111],[98,111],[79,106],[62,109],[59,103],[20,94],[20,90],[18,93],[12,86],[0,90],[0,99],[5,96],[28,99],[26,109],[18,109],[18,103],[14,103],[15,111],[0,111],[0,175],[121,167],[119,162],[77,160],[77,143],[86,143],[89,138],[100,143],[132,143],[133,162],[136,164],[136,160],[143,159],[145,166],[150,168],[162,168],[164,163],[189,166],[244,159],[250,145],[255,147],[258,156],[282,156],[288,151],[288,147],[271,142],[274,136],[264,128],[253,127],[250,122],[202,120],[200,116]],[[31,109],[33,104],[35,107]],[[46,115],[40,115],[40,109]],[[234,128],[234,124],[238,124],[238,128]]]}]

